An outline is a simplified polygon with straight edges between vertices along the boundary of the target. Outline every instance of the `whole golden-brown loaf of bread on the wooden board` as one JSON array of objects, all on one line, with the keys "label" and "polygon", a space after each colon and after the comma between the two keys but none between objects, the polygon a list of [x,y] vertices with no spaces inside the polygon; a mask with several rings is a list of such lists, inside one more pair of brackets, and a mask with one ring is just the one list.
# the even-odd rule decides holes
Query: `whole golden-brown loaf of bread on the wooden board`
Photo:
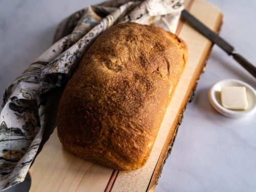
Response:
[{"label": "whole golden-brown loaf of bread on the wooden board", "polygon": [[157,27],[123,23],[103,32],[60,99],[62,145],[113,169],[142,167],[186,58],[185,43]]}]

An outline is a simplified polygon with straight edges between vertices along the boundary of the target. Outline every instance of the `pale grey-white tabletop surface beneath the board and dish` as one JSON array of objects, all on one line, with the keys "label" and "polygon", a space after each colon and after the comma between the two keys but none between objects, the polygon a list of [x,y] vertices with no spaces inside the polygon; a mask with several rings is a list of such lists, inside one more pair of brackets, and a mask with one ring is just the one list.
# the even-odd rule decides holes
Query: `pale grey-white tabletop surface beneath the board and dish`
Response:
[{"label": "pale grey-white tabletop surface beneath the board and dish", "polygon": [[[60,20],[101,0],[2,0],[0,3],[0,93],[51,46]],[[210,0],[223,12],[221,36],[256,63],[256,1]],[[256,115],[231,119],[209,104],[212,83],[256,81],[236,61],[214,46],[198,81],[193,102],[184,113],[173,152],[166,160],[156,191],[255,191]],[[27,191],[29,182],[7,191]]]}]

